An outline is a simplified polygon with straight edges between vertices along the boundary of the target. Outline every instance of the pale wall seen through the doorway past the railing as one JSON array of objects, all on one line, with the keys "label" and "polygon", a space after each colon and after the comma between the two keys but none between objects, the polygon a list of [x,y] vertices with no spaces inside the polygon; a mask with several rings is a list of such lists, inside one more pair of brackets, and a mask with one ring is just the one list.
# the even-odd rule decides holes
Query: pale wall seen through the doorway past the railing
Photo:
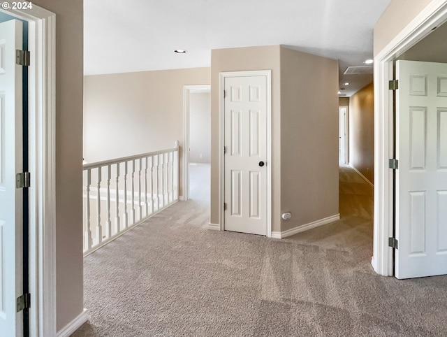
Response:
[{"label": "pale wall seen through the doorway past the railing", "polygon": [[210,92],[191,92],[189,96],[189,162],[211,163]]}]

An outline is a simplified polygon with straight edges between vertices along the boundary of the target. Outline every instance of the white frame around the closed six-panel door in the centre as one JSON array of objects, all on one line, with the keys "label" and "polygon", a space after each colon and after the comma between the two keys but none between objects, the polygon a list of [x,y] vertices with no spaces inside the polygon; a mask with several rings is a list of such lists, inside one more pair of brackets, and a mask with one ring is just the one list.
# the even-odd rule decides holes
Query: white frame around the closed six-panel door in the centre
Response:
[{"label": "white frame around the closed six-panel door in the centre", "polygon": [[225,157],[223,145],[225,144],[225,101],[223,99],[223,89],[226,78],[265,76],[267,89],[267,149],[266,149],[266,169],[267,169],[267,237],[272,237],[272,71],[229,71],[219,74],[219,230],[225,230],[225,215],[223,211],[223,201],[225,200]]}]

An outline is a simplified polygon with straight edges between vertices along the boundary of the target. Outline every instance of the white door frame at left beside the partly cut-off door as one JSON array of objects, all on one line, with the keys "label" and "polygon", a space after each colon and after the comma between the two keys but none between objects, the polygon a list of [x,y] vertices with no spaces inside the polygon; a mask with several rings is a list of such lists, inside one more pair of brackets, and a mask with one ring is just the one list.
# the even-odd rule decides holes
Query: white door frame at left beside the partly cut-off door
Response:
[{"label": "white door frame at left beside the partly cut-off door", "polygon": [[56,15],[3,10],[29,24],[29,291],[31,336],[56,336],[55,58]]}]

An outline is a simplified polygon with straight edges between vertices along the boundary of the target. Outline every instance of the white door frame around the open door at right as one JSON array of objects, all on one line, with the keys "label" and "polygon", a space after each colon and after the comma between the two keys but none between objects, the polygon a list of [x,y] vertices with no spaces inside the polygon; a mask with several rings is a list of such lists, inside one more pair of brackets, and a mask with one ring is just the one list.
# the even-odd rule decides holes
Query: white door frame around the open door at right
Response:
[{"label": "white door frame around the open door at right", "polygon": [[434,27],[447,21],[445,0],[433,0],[374,57],[374,243],[372,267],[380,275],[393,276],[393,171],[388,159],[393,158],[393,62]]}]

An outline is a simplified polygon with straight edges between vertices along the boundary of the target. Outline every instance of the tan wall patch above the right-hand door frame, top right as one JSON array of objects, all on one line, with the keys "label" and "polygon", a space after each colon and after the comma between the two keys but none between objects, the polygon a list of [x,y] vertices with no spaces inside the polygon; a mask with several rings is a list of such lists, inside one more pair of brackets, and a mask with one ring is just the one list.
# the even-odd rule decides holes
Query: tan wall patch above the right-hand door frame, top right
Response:
[{"label": "tan wall patch above the right-hand door frame, top right", "polygon": [[432,1],[392,0],[374,26],[374,55],[383,50]]}]

